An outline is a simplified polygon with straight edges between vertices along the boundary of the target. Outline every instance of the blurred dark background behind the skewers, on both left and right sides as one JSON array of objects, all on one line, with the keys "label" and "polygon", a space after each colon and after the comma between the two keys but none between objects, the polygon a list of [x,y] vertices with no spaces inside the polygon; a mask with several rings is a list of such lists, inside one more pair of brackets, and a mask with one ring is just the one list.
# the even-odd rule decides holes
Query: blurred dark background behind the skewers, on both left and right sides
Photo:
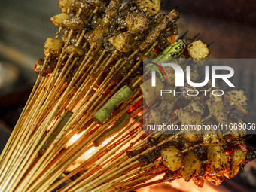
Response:
[{"label": "blurred dark background behind the skewers, on both left and right sides", "polygon": [[[172,8],[181,13],[180,34],[189,30],[187,37],[200,33],[199,38],[206,44],[215,42],[210,47],[210,58],[255,58],[255,0],[162,1],[163,13]],[[0,129],[0,135],[5,135],[0,139],[2,144],[32,90],[37,77],[32,66],[43,56],[44,41],[57,32],[50,17],[60,12],[57,0],[0,0],[0,126],[6,128]],[[248,120],[255,123],[256,67],[236,66],[235,72],[243,79],[239,87],[250,91]],[[254,140],[248,142],[255,145]]]}]

